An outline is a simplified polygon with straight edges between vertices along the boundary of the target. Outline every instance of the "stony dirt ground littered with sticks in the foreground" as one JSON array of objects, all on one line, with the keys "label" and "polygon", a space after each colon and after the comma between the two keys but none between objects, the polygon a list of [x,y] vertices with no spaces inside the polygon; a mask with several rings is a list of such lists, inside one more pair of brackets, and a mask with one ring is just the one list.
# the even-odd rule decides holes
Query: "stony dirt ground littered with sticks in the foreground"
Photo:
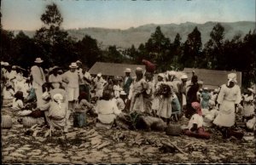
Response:
[{"label": "stony dirt ground littered with sticks in the foreground", "polygon": [[[212,134],[211,139],[195,139],[168,136],[165,132],[108,130],[94,125],[70,128],[67,134],[56,131],[44,138],[46,129],[36,136],[26,134],[28,128],[17,122],[9,108],[2,109],[2,115],[6,114],[13,117],[13,127],[2,129],[3,163],[256,162],[255,139],[225,140],[218,133]],[[185,118],[181,121],[186,122]],[[162,140],[170,140],[183,153],[166,151]]]}]

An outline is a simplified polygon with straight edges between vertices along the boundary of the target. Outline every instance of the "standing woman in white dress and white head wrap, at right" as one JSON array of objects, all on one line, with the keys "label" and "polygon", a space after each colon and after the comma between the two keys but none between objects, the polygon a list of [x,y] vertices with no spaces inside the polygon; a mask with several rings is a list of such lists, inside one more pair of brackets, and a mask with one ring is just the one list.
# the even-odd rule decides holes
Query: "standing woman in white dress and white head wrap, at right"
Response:
[{"label": "standing woman in white dress and white head wrap, at right", "polygon": [[236,83],[236,73],[230,73],[228,83],[221,86],[218,94],[219,113],[213,123],[223,127],[223,138],[230,136],[228,128],[235,124],[236,105],[241,102],[241,90]]}]

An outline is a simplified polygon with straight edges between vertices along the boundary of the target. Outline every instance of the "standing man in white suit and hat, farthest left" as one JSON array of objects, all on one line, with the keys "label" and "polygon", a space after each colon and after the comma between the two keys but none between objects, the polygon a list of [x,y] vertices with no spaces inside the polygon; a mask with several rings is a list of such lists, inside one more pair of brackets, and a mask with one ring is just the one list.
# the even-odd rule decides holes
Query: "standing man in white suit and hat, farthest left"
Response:
[{"label": "standing man in white suit and hat, farthest left", "polygon": [[35,65],[33,65],[31,68],[31,74],[33,79],[32,88],[35,89],[35,93],[37,96],[37,106],[40,107],[41,105],[44,105],[44,100],[42,100],[42,86],[45,83],[45,76],[44,71],[41,67],[42,62],[44,62],[44,60],[41,60],[41,58],[37,58],[34,62]]}]

